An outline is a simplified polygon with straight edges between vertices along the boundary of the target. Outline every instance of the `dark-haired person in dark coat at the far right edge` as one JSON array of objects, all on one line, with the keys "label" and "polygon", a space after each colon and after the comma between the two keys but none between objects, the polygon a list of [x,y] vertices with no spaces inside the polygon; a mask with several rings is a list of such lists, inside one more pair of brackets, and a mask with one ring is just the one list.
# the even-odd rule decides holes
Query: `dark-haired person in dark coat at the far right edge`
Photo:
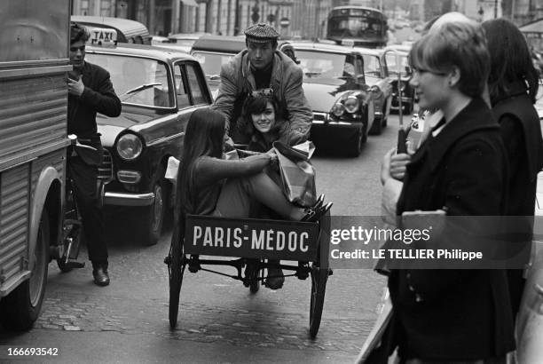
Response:
[{"label": "dark-haired person in dark coat at the far right edge", "polygon": [[[539,86],[538,71],[521,31],[509,20],[483,23],[492,67],[488,79],[492,112],[500,123],[508,152],[509,181],[506,215],[526,217],[515,231],[516,249],[529,252],[533,235],[538,172],[543,167],[543,138],[533,107]],[[522,241],[521,235],[522,233]],[[520,242],[520,244],[519,244]],[[524,288],[523,269],[508,270],[513,314],[519,310]]]}]

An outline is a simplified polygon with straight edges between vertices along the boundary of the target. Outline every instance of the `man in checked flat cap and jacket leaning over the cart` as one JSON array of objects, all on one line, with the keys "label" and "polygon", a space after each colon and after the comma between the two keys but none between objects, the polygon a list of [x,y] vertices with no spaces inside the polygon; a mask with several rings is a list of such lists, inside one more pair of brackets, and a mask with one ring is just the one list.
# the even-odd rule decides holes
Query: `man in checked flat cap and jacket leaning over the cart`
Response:
[{"label": "man in checked flat cap and jacket leaning over the cart", "polygon": [[[221,84],[213,108],[226,115],[235,142],[247,143],[238,126],[243,103],[256,93],[273,97],[279,104],[279,123],[289,123],[288,132],[309,136],[313,113],[302,89],[302,69],[277,50],[279,33],[267,24],[245,30],[247,49],[221,69]],[[298,138],[299,140],[299,138]]]}]

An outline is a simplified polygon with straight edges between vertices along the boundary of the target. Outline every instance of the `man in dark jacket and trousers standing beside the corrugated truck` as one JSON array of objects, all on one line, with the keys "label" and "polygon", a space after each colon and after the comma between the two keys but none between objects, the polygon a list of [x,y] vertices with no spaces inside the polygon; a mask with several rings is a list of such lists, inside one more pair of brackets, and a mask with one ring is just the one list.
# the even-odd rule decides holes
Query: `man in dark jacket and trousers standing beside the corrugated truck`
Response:
[{"label": "man in dark jacket and trousers standing beside the corrugated truck", "polygon": [[67,173],[74,181],[75,202],[81,211],[83,232],[92,263],[92,276],[98,286],[109,284],[107,246],[102,210],[98,206],[98,165],[102,161],[102,145],[96,125],[96,113],[121,115],[121,100],[114,91],[109,73],[85,61],[85,44],[90,37],[86,28],[72,23],[70,28],[70,63],[68,75],[68,134],[77,135],[81,144],[93,146],[93,158],[68,155]]}]

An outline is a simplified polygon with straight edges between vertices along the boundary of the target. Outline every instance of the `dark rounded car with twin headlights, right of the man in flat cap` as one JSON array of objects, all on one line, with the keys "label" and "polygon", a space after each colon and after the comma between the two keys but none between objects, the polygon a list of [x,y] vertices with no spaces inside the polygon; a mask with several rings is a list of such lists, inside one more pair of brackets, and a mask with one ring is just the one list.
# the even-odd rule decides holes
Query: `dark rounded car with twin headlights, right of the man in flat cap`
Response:
[{"label": "dark rounded car with twin headlights, right of the man in flat cap", "polygon": [[303,69],[303,91],[313,110],[311,139],[334,142],[358,156],[374,124],[376,86],[366,83],[362,55],[339,45],[293,43]]}]

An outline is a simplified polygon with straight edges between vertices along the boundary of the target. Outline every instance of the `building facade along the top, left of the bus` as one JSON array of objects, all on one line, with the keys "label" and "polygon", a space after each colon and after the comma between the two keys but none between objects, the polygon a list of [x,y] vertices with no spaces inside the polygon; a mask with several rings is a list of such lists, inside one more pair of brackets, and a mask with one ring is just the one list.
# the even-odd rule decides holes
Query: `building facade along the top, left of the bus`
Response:
[{"label": "building facade along the top, left of the bus", "polygon": [[201,32],[235,36],[256,22],[264,22],[284,38],[309,39],[326,36],[327,16],[333,6],[333,0],[72,1],[75,15],[137,20],[152,35]]}]

